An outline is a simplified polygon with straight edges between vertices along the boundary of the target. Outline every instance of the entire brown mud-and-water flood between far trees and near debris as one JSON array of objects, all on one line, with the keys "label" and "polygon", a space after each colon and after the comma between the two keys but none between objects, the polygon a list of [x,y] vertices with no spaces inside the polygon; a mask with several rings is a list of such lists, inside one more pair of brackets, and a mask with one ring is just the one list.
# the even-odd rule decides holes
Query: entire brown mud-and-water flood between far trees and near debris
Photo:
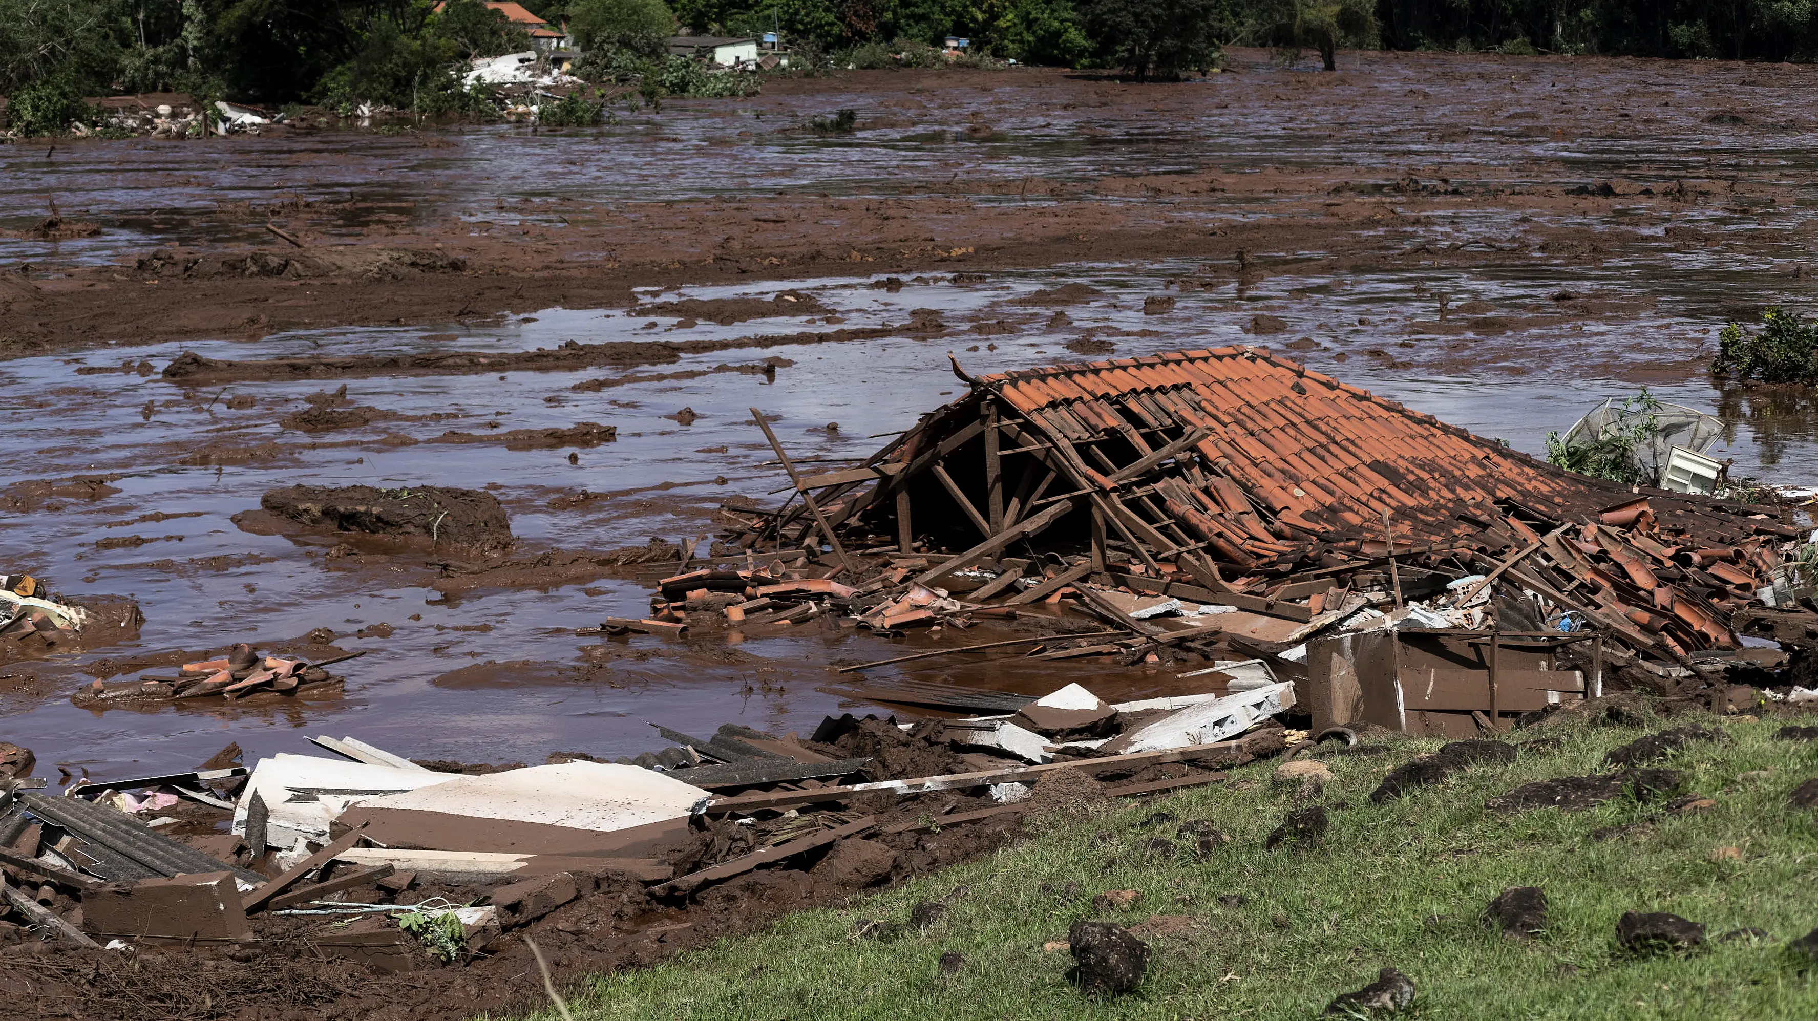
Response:
[{"label": "entire brown mud-and-water flood between far trees and near debris", "polygon": [[[571,133],[0,147],[0,227],[25,231],[47,196],[102,227],[0,238],[16,280],[0,334],[25,338],[0,362],[0,570],[131,596],[145,616],[131,645],[0,667],[0,738],[105,778],[193,767],[229,739],[265,756],[353,734],[504,763],[636,754],[662,745],[649,723],[807,732],[864,710],[822,690],[829,667],[958,639],[576,636],[644,616],[649,589],[602,570],[451,590],[433,563],[454,554],[269,534],[244,512],[284,485],[444,485],[498,496],[514,560],[713,534],[722,500],[780,501],[787,483],[753,407],[796,458],[862,458],[964,392],[949,354],[978,374],[1254,343],[1529,452],[1645,385],[1725,418],[1713,456],[1733,474],[1818,483],[1809,398],[1707,374],[1725,322],[1811,300],[1811,73],[1407,55],[1331,78],[1264,55],[1238,71],[1149,93],[1036,73],[782,82]],[[784,131],[842,107],[862,113],[854,136]],[[347,253],[382,245],[464,263],[349,269]],[[145,269],[162,249],[304,262]],[[618,342],[674,347],[500,372],[162,378],[182,352]],[[287,425],[313,394],[373,414]],[[489,440],[576,423],[616,438]],[[105,487],[27,500],[16,485],[75,476]],[[318,629],[365,650],[335,698],[69,701],[98,676],[167,672],[158,654]],[[1171,685],[1065,663],[1029,678],[1013,658],[914,667],[1029,692]]]}]

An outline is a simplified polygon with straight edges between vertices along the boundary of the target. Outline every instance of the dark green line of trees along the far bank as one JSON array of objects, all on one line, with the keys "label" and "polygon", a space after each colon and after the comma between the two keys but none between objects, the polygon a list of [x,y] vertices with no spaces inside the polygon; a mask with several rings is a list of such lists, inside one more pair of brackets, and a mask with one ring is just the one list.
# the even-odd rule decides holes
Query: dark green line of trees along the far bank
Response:
[{"label": "dark green line of trees along the far bank", "polygon": [[[1229,45],[1818,60],[1814,0],[524,0],[633,67],[676,31],[780,31],[800,67],[938,45],[1022,64],[1174,78]],[[480,0],[0,0],[0,94],[189,91],[264,104],[478,102],[453,74],[529,49]],[[45,100],[49,96],[51,100]],[[60,98],[58,98],[60,96]]]}]

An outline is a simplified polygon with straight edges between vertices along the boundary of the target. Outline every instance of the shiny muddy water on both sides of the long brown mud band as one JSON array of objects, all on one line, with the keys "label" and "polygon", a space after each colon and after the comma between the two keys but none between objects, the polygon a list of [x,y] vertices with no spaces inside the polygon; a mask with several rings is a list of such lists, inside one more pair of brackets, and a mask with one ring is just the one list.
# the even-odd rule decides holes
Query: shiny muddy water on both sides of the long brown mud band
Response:
[{"label": "shiny muddy water on both sides of the long brown mud band", "polygon": [[[853,276],[645,292],[653,302],[767,300],[794,287],[836,309],[845,327],[900,325],[913,311],[933,309],[951,329],[929,340],[731,349],[631,372],[349,380],[349,400],[393,418],[324,434],[278,423],[320,385],[182,391],[155,372],[75,371],[122,360],[162,369],[184,349],[236,360],[447,347],[504,352],[569,340],[733,340],[833,325],[778,316],[678,329],[673,316],[545,309],[484,327],[302,331],[253,343],[116,345],[82,358],[5,362],[4,478],[122,478],[113,481],[118,494],[93,503],[58,500],[56,509],[5,514],[9,561],[0,570],[27,569],[73,594],[131,594],[147,625],[133,647],[0,669],[11,674],[0,679],[0,712],[7,714],[0,738],[24,739],[44,761],[105,778],[193,765],[229,739],[255,756],[304,750],[311,734],[355,734],[411,756],[540,761],[553,750],[618,756],[658,747],[647,721],[691,732],[729,719],[811,730],[824,712],[862,705],[816,690],[829,678],[827,663],[904,649],[818,630],[731,649],[644,636],[576,638],[576,627],[640,612],[647,592],[596,581],[442,598],[424,585],[429,572],[413,563],[331,560],[327,540],[249,534],[233,516],[255,509],[260,494],[278,485],[436,483],[491,487],[513,516],[520,547],[531,552],[696,536],[711,530],[707,516],[720,500],[782,485],[778,471],[764,465],[771,454],[747,423],[751,407],[782,416],[778,432],[794,456],[864,456],[882,443],[880,434],[909,427],[960,392],[964,383],[947,369],[949,351],[967,371],[991,372],[1222,343],[1285,347],[1314,369],[1534,452],[1549,429],[1567,427],[1605,396],[1647,385],[1663,400],[1722,411],[1733,429],[1716,456],[1734,458],[1736,474],[1789,485],[1818,478],[1818,409],[1811,401],[1720,389],[1703,376],[1714,332],[1727,318],[1753,316],[1763,303],[1809,300],[1807,278],[1791,273],[1805,258],[1802,236],[1814,207],[1802,183],[1813,169],[1813,147],[1796,82],[1725,82],[1753,120],[1711,127],[1702,118],[1674,120],[1673,107],[1660,105],[1709,87],[1702,76],[1714,73],[1703,67],[1643,64],[1587,85],[1547,62],[1449,76],[1411,58],[1360,64],[1362,73],[1349,78],[1320,78],[1253,62],[1244,74],[1145,93],[1160,96],[1154,102],[1133,102],[1116,85],[1056,96],[1002,74],[909,96],[778,87],[773,96],[736,104],[674,104],[660,118],[624,116],[585,133],[489,127],[60,145],[55,153],[40,144],[0,147],[0,227],[27,227],[49,211],[47,196],[65,216],[104,225],[98,238],[78,242],[0,240],[7,260],[40,267],[127,258],[153,243],[247,242],[262,236],[265,213],[240,211],[238,203],[289,200],[318,203],[318,216],[333,214],[325,236],[353,236],[409,233],[447,218],[473,231],[520,222],[556,227],[574,202],[760,189],[893,194],[916,182],[1009,203],[1024,196],[1005,182],[1044,178],[1071,187],[1060,189],[1058,202],[1165,207],[1167,198],[1111,178],[1202,169],[1354,167],[1369,202],[1383,194],[1393,202],[1382,189],[1403,174],[1431,185],[1436,164],[1471,169],[1480,187],[1620,178],[1634,191],[1698,176],[1774,198],[1765,203],[1723,193],[1671,216],[1622,202],[1556,203],[1520,222],[1469,203],[1425,214],[1427,243],[1487,253],[1536,225],[1622,238],[1598,258],[1562,256],[1547,265],[1496,265],[1494,258],[1474,269],[1422,267],[1418,260],[1340,265],[1309,247],[1258,253],[1242,271],[1158,260],[996,273],[969,285],[929,274],[904,280],[898,291]],[[1505,82],[1503,71],[1518,78]],[[1331,82],[1349,82],[1367,93],[1365,100],[1329,107],[1324,89]],[[1496,116],[1478,111],[1465,118],[1458,111],[1467,89],[1476,91],[1473,102],[1487,89],[1507,89],[1507,100]],[[845,105],[862,107],[873,127],[833,140],[778,131]],[[1587,124],[1598,131],[1585,131]],[[980,129],[967,133],[973,125]],[[1047,202],[1056,200],[1027,205]],[[1285,202],[1213,194],[1180,216],[1216,229],[1222,218],[1287,216]],[[1331,202],[1365,200],[1336,194]],[[1687,245],[1669,227],[1747,243]],[[1065,307],[1016,303],[1062,283],[1098,292]],[[1151,296],[1176,303],[1144,314]],[[714,372],[764,358],[787,363],[773,376]],[[691,371],[704,374],[651,378]],[[573,389],[602,378],[614,385]],[[253,398],[253,405],[236,398]],[[669,418],[684,407],[696,416],[689,425]],[[485,434],[493,423],[509,431],[576,421],[616,425],[618,440],[576,451],[573,465],[567,449],[516,452],[429,441],[445,431]],[[838,429],[829,429],[831,421]],[[207,445],[265,443],[276,451],[258,460],[184,463]],[[580,491],[605,498],[553,505]],[[145,541],[96,545],[125,536]],[[333,630],[344,649],[367,650],[345,667],[349,685],[338,699],[107,712],[67,701],[91,676],[116,676],[135,656],[296,639],[315,629]],[[945,639],[916,636],[909,645]],[[1002,689],[1034,683],[1009,663],[936,661],[918,665],[918,676]],[[1142,670],[1098,670],[1047,665],[1042,683],[1082,676],[1104,694],[1136,694],[1169,681]]]}]

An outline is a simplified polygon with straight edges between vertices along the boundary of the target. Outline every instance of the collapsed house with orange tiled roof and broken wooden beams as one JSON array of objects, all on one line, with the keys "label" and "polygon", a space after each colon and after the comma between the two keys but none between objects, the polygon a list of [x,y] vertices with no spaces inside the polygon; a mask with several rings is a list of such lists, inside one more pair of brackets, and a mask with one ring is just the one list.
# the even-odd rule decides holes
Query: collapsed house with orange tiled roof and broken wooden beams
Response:
[{"label": "collapsed house with orange tiled roof and broken wooden beams", "polygon": [[[1327,727],[1494,730],[1605,663],[1673,692],[1818,636],[1785,507],[1565,472],[1251,347],[954,372],[864,463],[784,458],[796,492],[731,509],[734,540],[825,563],[884,630],[1069,594],[1122,630],[1093,654],[1264,656]],[[1402,641],[1360,658],[1358,630]]]}]

